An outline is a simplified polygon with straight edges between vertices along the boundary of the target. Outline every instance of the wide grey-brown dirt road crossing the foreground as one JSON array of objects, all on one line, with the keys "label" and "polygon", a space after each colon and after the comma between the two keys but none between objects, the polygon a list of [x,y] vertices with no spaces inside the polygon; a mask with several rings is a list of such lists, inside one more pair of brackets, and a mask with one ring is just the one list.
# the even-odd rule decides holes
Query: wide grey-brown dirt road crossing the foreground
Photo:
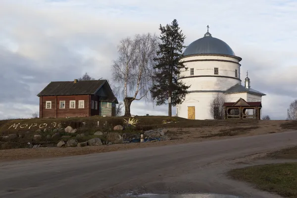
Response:
[{"label": "wide grey-brown dirt road crossing the foreground", "polygon": [[0,163],[3,198],[107,198],[126,192],[218,193],[278,198],[225,172],[252,163],[259,153],[294,146],[297,131],[139,148],[62,158]]}]

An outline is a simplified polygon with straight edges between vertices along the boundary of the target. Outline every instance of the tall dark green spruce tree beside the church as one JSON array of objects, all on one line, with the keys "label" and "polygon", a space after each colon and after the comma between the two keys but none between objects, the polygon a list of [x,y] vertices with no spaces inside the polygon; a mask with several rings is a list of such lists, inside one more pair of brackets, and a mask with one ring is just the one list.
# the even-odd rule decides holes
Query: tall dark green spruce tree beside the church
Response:
[{"label": "tall dark green spruce tree beside the church", "polygon": [[154,58],[154,84],[150,89],[156,105],[165,104],[168,101],[168,116],[172,115],[171,107],[182,103],[185,100],[187,90],[186,86],[179,81],[181,70],[188,69],[184,62],[180,61],[183,57],[185,36],[180,30],[176,19],[165,27],[161,26],[159,30],[160,44],[157,50],[157,56]]}]

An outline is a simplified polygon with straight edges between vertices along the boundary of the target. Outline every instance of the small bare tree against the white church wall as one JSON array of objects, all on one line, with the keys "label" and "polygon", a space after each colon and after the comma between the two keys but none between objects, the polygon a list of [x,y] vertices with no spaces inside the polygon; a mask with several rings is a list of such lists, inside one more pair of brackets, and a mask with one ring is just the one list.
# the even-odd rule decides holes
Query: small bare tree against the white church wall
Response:
[{"label": "small bare tree against the white church wall", "polygon": [[213,101],[210,103],[210,114],[214,119],[224,119],[224,102],[225,98],[223,94],[217,94]]}]

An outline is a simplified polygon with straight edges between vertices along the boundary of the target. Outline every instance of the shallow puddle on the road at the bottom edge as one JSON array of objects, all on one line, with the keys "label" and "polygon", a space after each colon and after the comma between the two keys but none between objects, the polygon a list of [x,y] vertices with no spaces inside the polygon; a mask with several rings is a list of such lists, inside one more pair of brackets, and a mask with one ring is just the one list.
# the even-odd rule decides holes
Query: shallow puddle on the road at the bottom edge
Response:
[{"label": "shallow puddle on the road at the bottom edge", "polygon": [[144,194],[138,196],[131,196],[130,198],[239,198],[231,195],[218,194],[180,194],[180,195],[166,195],[166,194]]}]

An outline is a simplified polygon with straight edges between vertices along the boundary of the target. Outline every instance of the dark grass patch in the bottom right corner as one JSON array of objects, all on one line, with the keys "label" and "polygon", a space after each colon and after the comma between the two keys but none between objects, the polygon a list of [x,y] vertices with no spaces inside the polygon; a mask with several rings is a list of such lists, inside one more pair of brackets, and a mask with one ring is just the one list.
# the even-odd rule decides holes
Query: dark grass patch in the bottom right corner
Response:
[{"label": "dark grass patch in the bottom right corner", "polygon": [[235,169],[229,175],[258,189],[286,198],[297,198],[297,163],[265,164]]}]

